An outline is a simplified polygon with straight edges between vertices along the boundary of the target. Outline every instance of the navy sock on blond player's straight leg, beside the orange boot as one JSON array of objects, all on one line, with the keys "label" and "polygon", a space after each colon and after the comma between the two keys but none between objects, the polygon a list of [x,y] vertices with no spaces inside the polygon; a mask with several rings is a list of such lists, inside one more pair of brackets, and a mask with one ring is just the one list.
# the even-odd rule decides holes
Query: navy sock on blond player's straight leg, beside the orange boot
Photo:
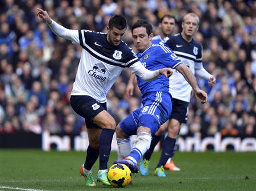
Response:
[{"label": "navy sock on blond player's straight leg, beside the orange boot", "polygon": [[156,168],[166,164],[167,160],[173,156],[175,143],[176,139],[172,139],[169,136],[164,139],[161,157]]}]

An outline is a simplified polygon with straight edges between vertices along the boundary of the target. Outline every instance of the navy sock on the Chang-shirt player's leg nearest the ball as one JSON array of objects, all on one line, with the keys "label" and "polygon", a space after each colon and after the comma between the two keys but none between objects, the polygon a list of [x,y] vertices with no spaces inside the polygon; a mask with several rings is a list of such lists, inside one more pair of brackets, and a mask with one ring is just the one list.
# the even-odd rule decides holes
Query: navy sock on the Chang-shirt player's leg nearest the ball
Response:
[{"label": "navy sock on the Chang-shirt player's leg nearest the ball", "polygon": [[99,140],[100,170],[108,169],[109,155],[115,130],[104,128]]}]

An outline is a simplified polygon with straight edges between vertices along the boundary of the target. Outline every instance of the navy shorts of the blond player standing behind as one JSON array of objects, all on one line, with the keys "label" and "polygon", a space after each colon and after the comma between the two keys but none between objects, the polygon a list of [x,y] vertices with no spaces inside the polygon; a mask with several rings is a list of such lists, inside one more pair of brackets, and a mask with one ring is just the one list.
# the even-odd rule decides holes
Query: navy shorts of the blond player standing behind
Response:
[{"label": "navy shorts of the blond player standing behind", "polygon": [[172,113],[170,119],[177,119],[180,123],[187,123],[189,102],[172,98]]}]

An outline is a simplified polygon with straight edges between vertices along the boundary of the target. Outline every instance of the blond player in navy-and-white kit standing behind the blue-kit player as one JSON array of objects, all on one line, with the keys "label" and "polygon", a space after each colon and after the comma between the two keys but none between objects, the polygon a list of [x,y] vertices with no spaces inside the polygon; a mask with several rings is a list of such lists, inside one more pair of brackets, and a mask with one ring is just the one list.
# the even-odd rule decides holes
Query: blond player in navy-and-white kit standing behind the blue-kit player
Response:
[{"label": "blond player in navy-and-white kit standing behind the blue-kit player", "polygon": [[[192,73],[203,77],[208,81],[209,86],[213,86],[216,79],[203,68],[202,64],[202,47],[200,43],[193,40],[193,35],[199,27],[199,17],[194,13],[184,16],[182,23],[183,30],[181,34],[169,36],[164,39],[168,47],[170,47],[179,59],[191,69]],[[155,170],[155,175],[166,177],[165,169],[169,169],[168,160],[174,156],[174,146],[177,135],[179,134],[180,124],[187,122],[188,105],[191,96],[191,86],[185,81],[184,77],[176,70],[170,77],[170,93],[172,95],[172,114],[169,123],[160,127],[157,134],[161,134],[168,125],[168,135],[163,142],[162,155]],[[140,172],[143,176],[148,175],[148,163],[156,144],[159,142],[157,137],[153,137],[150,150],[143,156],[143,165],[140,165]]]}]

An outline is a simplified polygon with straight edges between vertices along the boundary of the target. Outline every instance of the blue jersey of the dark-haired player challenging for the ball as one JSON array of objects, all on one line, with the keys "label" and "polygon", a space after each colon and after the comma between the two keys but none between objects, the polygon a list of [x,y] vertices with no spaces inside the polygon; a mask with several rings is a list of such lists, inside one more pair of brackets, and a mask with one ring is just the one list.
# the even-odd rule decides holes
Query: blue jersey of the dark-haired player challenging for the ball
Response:
[{"label": "blue jersey of the dark-haired player challenging for the ball", "polygon": [[[148,70],[157,70],[161,68],[174,69],[181,64],[180,59],[165,44],[152,44],[142,53],[137,53],[141,63]],[[169,80],[164,75],[153,81],[144,81],[137,76],[138,86],[142,96],[148,92],[169,92]]]}]

